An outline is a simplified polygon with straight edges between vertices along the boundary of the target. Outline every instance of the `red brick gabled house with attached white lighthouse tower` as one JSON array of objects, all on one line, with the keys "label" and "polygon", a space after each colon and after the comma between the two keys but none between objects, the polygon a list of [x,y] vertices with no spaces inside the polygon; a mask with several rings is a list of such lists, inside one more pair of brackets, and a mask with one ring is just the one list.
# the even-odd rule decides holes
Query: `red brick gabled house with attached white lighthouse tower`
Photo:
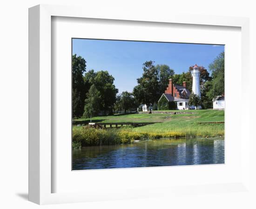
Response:
[{"label": "red brick gabled house with attached white lighthouse tower", "polygon": [[[191,72],[193,77],[192,91],[197,96],[201,97],[200,92],[200,71],[199,67],[195,64],[193,71]],[[158,100],[160,106],[168,105],[169,109],[176,110],[187,110],[195,109],[195,106],[189,106],[189,96],[190,91],[187,89],[186,81],[182,85],[174,85],[172,79],[169,79],[169,85],[166,88],[166,91],[162,94],[161,98]],[[175,103],[174,105],[171,105]],[[199,107],[201,109],[201,106]]]}]

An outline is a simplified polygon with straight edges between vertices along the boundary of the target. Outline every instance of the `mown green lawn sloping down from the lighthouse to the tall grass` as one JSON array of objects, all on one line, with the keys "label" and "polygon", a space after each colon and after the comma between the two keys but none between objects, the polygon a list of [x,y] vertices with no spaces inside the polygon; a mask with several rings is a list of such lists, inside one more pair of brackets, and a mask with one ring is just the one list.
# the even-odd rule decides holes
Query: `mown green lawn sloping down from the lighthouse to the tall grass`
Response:
[{"label": "mown green lawn sloping down from the lighthouse to the tall grass", "polygon": [[[190,110],[194,114],[130,114],[94,117],[93,122],[162,122],[132,129],[136,132],[182,132],[187,136],[223,136],[224,124],[197,124],[199,122],[223,122],[224,111]],[[80,118],[79,121],[88,122]]]}]

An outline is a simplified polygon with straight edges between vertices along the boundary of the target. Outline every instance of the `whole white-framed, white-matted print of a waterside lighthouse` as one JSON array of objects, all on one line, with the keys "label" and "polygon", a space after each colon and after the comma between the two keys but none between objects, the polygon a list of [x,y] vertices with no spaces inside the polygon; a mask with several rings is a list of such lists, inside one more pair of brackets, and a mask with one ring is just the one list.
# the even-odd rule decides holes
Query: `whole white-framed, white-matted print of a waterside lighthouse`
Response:
[{"label": "whole white-framed, white-matted print of a waterside lighthouse", "polygon": [[30,8],[29,200],[245,191],[248,36],[246,18]]}]

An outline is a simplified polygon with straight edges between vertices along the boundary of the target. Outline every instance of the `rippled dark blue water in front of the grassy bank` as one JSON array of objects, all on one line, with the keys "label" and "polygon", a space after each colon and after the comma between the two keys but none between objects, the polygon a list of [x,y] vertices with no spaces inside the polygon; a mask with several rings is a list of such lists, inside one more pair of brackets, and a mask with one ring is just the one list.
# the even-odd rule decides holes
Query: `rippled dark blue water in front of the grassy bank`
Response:
[{"label": "rippled dark blue water in front of the grassy bank", "polygon": [[158,139],[73,150],[73,170],[224,163],[223,138]]}]

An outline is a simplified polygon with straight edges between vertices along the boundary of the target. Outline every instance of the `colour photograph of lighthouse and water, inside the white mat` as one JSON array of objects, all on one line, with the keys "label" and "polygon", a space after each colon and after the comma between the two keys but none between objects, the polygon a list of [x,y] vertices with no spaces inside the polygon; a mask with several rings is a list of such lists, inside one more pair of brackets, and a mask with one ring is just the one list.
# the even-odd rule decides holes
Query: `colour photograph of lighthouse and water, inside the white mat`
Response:
[{"label": "colour photograph of lighthouse and water, inside the white mat", "polygon": [[224,51],[73,38],[72,170],[224,164]]}]

